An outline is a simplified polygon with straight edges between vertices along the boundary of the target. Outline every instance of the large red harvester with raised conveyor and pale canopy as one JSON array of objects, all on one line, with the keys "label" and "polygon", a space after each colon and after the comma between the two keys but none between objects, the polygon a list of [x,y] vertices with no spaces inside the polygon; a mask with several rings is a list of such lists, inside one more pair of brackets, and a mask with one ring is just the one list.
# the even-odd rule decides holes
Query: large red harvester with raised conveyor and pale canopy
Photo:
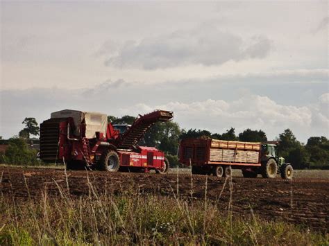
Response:
[{"label": "large red harvester with raised conveyor and pale canopy", "polygon": [[132,125],[112,125],[106,114],[97,112],[53,112],[40,125],[40,159],[65,162],[69,169],[87,166],[111,172],[121,168],[167,173],[169,162],[165,154],[137,143],[154,123],[170,121],[173,115],[156,110],[137,116]]}]

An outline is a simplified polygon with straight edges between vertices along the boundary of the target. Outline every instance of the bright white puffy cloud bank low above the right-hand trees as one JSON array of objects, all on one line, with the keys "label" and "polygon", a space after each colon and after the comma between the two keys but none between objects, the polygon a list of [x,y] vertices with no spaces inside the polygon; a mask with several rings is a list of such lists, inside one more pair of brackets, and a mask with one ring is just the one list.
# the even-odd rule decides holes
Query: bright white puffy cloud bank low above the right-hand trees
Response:
[{"label": "bright white puffy cloud bank low above the right-hand trees", "polygon": [[[207,129],[211,132],[225,132],[230,127],[236,132],[246,128],[262,129],[269,139],[290,128],[302,141],[314,135],[328,137],[329,94],[320,96],[316,105],[296,107],[280,105],[267,96],[249,94],[227,102],[224,100],[203,100],[193,103],[170,102],[165,105],[138,104],[121,108],[122,112],[146,113],[150,109],[160,108],[174,111],[175,121],[183,128]],[[324,98],[324,99],[323,99]],[[323,112],[326,108],[327,112]]]}]

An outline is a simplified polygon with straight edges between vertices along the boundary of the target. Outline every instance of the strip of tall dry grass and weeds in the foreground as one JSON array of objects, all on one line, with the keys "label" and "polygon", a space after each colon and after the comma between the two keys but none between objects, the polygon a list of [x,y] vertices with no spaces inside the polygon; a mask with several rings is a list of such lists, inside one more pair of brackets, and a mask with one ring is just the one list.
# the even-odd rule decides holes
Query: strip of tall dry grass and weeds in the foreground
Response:
[{"label": "strip of tall dry grass and weeds in the foreground", "polygon": [[[90,187],[93,191],[93,188]],[[205,201],[138,194],[0,199],[0,245],[326,245],[328,238],[283,222],[235,218]]]}]

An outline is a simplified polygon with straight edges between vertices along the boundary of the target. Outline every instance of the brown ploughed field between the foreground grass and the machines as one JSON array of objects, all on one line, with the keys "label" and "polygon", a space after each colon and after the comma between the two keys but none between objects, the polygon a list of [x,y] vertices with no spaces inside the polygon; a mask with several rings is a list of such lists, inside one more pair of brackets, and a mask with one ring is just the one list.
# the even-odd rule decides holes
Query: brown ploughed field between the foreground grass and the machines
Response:
[{"label": "brown ploughed field between the foreground grass and the machines", "polygon": [[[264,220],[282,220],[315,231],[328,232],[329,178],[312,173],[311,177],[281,179],[213,177],[171,171],[155,173],[108,173],[49,168],[0,166],[0,195],[8,202],[69,193],[71,197],[90,192],[114,195],[167,195],[182,200],[208,200],[223,213],[230,208],[240,218],[258,216]],[[234,174],[234,173],[233,173]],[[304,173],[305,174],[305,173]],[[315,178],[314,176],[318,176]],[[14,197],[15,199],[11,199]]]}]

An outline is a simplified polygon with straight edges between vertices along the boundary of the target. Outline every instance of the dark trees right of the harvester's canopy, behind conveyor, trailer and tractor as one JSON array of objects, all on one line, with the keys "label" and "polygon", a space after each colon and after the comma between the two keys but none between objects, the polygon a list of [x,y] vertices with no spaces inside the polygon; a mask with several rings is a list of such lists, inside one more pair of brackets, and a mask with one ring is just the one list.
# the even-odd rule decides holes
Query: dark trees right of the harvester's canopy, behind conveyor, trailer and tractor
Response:
[{"label": "dark trees right of the harvester's canopy, behind conveyor, trailer and tractor", "polygon": [[[121,118],[108,116],[108,121],[115,124],[126,123],[131,125],[134,120],[135,117],[133,116],[123,116]],[[208,130],[181,129],[178,123],[169,121],[155,123],[151,130],[145,134],[144,139],[140,141],[140,145],[154,146],[162,150],[170,156],[171,162],[174,161],[177,164],[176,155],[179,141],[198,137],[244,142],[266,142],[269,140],[262,130],[248,128],[236,134],[235,128],[230,128],[219,134]],[[285,129],[273,140],[279,141],[279,155],[284,157],[286,162],[292,163],[294,168],[329,168],[329,140],[326,137],[310,137],[305,144],[296,139],[292,130]]]}]

